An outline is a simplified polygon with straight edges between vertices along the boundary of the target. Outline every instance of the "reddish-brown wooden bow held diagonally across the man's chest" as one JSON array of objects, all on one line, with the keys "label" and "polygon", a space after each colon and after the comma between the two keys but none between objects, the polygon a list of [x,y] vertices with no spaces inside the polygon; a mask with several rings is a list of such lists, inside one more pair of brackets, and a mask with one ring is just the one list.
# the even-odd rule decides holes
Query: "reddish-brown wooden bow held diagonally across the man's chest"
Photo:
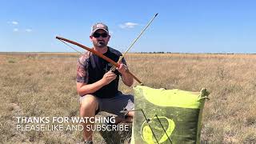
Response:
[{"label": "reddish-brown wooden bow held diagonally across the man's chest", "polygon": [[[79,47],[82,47],[82,49],[85,49],[85,50],[88,50],[90,51],[91,53],[97,55],[98,57],[100,58],[103,58],[106,60],[106,62],[110,62],[112,65],[116,66],[116,67],[119,67],[120,65],[117,63],[117,62],[114,62],[112,59],[110,58],[107,58],[105,55],[103,55],[102,53],[99,53],[98,51],[96,50],[93,50],[93,49],[90,49],[89,47],[86,47],[86,46],[83,46],[82,44],[78,43],[78,42],[74,42],[74,41],[71,41],[69,39],[66,39],[66,38],[62,38],[62,37],[56,37],[57,39],[61,40],[61,41],[65,41],[65,42],[70,42],[76,46],[79,46]],[[142,85],[142,82],[140,80],[138,80],[138,78],[136,78],[134,76],[134,74],[130,73],[129,70],[127,70],[127,73],[129,73],[137,82],[139,82],[141,85]]]}]

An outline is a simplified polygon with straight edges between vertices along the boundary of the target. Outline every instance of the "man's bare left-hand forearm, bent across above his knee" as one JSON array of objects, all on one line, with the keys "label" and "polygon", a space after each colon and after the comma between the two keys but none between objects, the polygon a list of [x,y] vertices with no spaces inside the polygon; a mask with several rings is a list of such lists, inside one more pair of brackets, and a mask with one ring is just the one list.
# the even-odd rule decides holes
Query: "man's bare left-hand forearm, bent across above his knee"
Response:
[{"label": "man's bare left-hand forearm, bent across above his knee", "polygon": [[[80,85],[80,86],[79,86]],[[77,84],[77,89],[78,89],[78,94],[80,96],[86,95],[86,94],[92,94],[95,91],[99,90],[102,88],[102,86],[105,86],[105,83],[102,82],[101,80],[98,80],[97,82],[94,82],[92,84],[82,84],[82,83],[78,83]]]}]

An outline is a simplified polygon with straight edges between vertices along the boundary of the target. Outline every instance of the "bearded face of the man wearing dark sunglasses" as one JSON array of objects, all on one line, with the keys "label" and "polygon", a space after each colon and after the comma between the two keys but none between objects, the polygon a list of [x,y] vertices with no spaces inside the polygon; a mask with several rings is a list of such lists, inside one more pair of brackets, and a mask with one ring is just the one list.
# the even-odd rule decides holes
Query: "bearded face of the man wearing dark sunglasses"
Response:
[{"label": "bearded face of the man wearing dark sunglasses", "polygon": [[93,42],[95,47],[104,48],[110,40],[110,35],[105,30],[96,30],[93,35],[90,36],[90,41]]}]

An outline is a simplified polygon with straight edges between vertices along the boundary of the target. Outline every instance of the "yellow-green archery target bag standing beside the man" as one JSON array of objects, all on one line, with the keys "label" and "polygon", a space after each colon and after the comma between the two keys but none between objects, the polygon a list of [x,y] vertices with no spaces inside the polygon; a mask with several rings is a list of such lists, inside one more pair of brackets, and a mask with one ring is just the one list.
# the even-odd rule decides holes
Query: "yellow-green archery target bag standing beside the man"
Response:
[{"label": "yellow-green archery target bag standing beside the man", "polygon": [[202,110],[209,92],[134,87],[131,143],[200,143]]}]

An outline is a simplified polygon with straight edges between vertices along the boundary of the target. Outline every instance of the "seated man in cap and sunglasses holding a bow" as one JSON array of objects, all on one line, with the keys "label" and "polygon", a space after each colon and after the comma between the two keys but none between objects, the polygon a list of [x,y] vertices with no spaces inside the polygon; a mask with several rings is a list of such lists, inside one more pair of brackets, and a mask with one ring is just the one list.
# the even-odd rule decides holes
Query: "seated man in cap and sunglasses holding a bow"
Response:
[{"label": "seated man in cap and sunglasses holding a bow", "polygon": [[[118,50],[107,46],[110,40],[108,27],[103,23],[96,23],[92,26],[90,41],[93,42],[93,49],[102,53],[106,57],[118,62],[122,54]],[[126,86],[133,85],[132,76],[127,73],[126,61],[122,58],[120,67],[111,71],[112,65],[97,55],[86,51],[78,59],[77,67],[77,90],[80,98],[80,117],[91,118],[99,111],[106,111],[118,115],[115,122],[121,122],[126,118],[126,122],[132,122],[133,112],[124,115],[120,111],[132,110],[134,108],[134,98],[132,95],[124,95],[118,91],[119,76]],[[86,126],[90,122],[83,124],[83,138],[86,143],[92,143],[91,130]]]}]

